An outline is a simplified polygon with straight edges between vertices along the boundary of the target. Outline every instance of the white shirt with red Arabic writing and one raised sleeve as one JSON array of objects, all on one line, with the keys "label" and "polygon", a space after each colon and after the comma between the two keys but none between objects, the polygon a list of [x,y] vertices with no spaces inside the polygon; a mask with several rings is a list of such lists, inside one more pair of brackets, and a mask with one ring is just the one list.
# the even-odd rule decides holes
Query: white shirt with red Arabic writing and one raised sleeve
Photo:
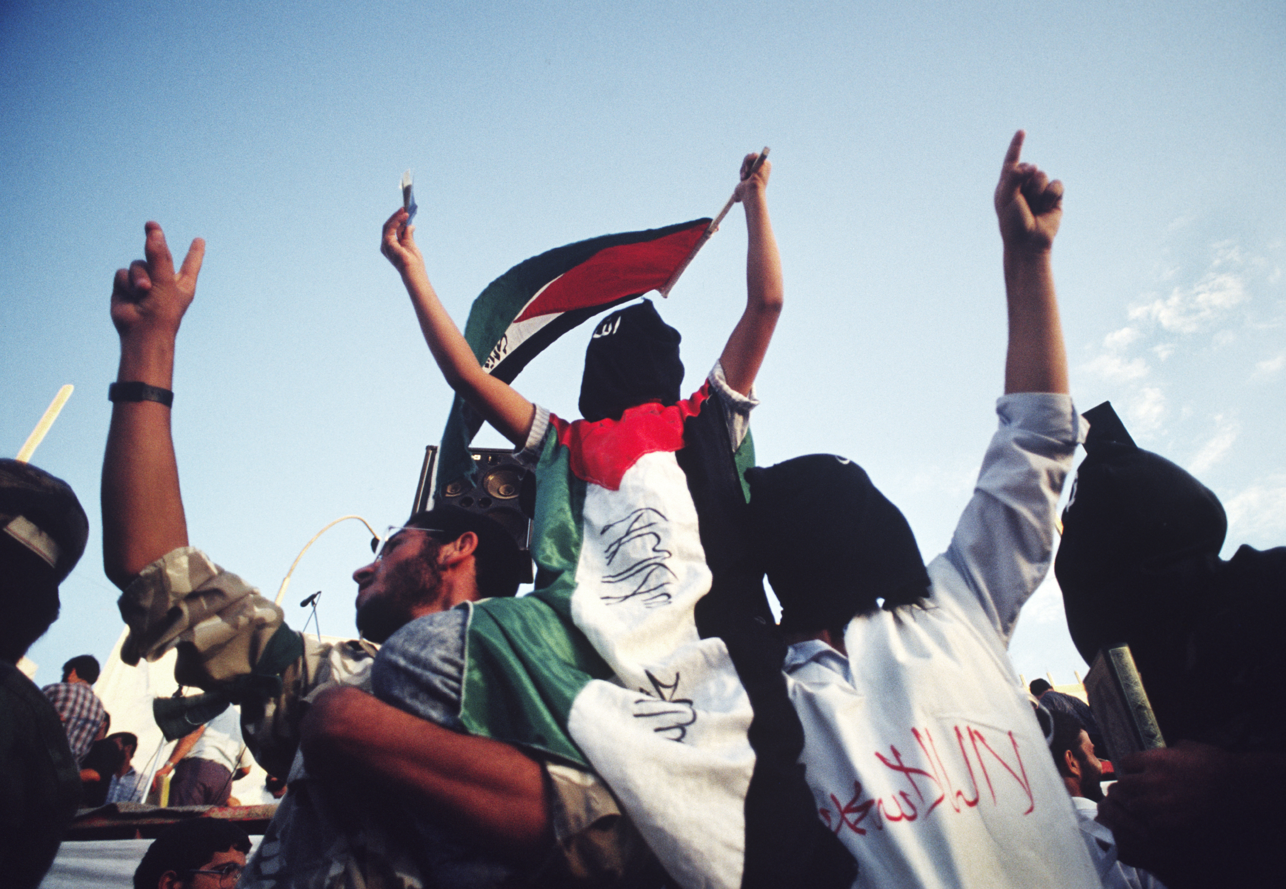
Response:
[{"label": "white shirt with red Arabic writing and one raised sleeve", "polygon": [[855,886],[1100,885],[1006,651],[1049,569],[1084,423],[1065,395],[1006,396],[997,413],[927,607],[854,618],[847,657],[817,641],[787,655],[808,782]]}]

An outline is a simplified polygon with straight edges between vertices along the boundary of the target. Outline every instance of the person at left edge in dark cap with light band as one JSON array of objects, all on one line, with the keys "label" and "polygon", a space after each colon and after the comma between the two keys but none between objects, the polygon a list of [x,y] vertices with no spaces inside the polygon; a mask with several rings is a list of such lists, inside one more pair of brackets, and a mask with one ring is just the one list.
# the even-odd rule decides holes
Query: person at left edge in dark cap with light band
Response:
[{"label": "person at left edge in dark cap with light band", "polygon": [[40,884],[80,799],[58,711],[17,664],[58,619],[87,536],[67,482],[0,459],[0,881],[14,889]]}]

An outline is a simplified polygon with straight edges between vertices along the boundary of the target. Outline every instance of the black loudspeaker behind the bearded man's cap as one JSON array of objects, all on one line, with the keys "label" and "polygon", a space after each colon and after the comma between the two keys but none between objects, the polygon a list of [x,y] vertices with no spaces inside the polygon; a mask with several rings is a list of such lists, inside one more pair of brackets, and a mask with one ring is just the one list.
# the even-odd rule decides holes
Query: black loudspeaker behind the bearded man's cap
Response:
[{"label": "black loudspeaker behind the bearded man's cap", "polygon": [[433,490],[437,448],[424,448],[424,464],[419,472],[413,512],[433,506],[458,506],[491,518],[509,531],[518,549],[527,556],[526,576],[531,583],[531,517],[536,511],[536,473],[518,463],[512,450],[504,448],[478,448],[469,452],[477,463],[476,485],[460,477]]}]

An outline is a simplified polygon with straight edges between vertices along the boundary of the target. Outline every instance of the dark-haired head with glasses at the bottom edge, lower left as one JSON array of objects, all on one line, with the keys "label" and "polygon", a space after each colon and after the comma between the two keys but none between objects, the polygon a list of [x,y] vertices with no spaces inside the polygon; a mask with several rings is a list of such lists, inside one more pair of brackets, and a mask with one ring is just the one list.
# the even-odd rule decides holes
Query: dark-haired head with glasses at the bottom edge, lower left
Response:
[{"label": "dark-haired head with glasses at the bottom edge, lower left", "polygon": [[134,889],[233,889],[248,853],[249,838],[233,821],[180,821],[148,847]]}]

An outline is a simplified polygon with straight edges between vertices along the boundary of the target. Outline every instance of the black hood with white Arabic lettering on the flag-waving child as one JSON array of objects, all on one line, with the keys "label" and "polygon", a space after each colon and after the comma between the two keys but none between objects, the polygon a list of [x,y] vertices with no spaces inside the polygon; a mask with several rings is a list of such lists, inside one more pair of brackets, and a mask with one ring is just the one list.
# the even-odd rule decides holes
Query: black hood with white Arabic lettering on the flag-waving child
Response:
[{"label": "black hood with white Arabic lettering on the flag-waving child", "polygon": [[580,416],[620,419],[626,408],[660,400],[674,404],[683,385],[679,332],[661,320],[651,300],[599,322],[585,350]]}]

